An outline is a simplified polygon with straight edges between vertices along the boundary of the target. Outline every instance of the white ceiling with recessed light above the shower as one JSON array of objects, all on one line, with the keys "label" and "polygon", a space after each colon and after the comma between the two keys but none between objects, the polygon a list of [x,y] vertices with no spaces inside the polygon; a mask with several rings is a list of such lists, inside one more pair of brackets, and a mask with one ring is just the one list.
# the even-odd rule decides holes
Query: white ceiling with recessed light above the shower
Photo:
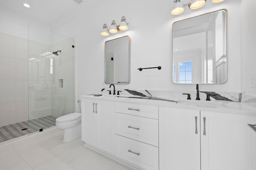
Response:
[{"label": "white ceiling with recessed light above the shower", "polygon": [[[77,4],[74,0],[0,0],[0,12],[18,19],[35,20],[44,25],[54,25],[68,14],[73,15],[86,1]],[[23,6],[24,3],[30,8]],[[3,12],[4,11],[4,12]],[[69,20],[70,18],[67,18]],[[51,28],[52,29],[52,28]]]}]

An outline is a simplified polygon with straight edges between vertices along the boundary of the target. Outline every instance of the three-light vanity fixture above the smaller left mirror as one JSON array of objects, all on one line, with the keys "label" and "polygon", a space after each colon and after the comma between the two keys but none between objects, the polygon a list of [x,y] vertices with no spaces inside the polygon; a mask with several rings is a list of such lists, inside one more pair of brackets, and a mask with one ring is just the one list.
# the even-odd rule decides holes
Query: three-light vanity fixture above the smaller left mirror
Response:
[{"label": "three-light vanity fixture above the smaller left mirror", "polygon": [[128,29],[128,26],[127,26],[127,25],[128,25],[128,23],[126,23],[126,18],[125,18],[125,16],[123,16],[123,17],[121,18],[121,23],[120,23],[120,25],[116,25],[116,21],[113,20],[112,23],[111,23],[111,27],[110,27],[109,30],[108,30],[107,24],[104,23],[104,25],[103,25],[103,30],[102,30],[102,32],[101,32],[100,34],[103,35],[103,36],[108,36],[108,35],[109,35],[108,32],[110,32],[110,33],[117,33],[118,31]]}]

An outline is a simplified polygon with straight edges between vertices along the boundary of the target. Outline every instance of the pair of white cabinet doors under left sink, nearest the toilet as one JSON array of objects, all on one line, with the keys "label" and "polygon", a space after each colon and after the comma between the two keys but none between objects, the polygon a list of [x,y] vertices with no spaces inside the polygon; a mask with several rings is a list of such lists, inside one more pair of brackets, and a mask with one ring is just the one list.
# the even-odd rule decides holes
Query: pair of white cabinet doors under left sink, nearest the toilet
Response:
[{"label": "pair of white cabinet doors under left sink, nearest the toilet", "polygon": [[82,99],[82,141],[115,154],[115,102]]}]

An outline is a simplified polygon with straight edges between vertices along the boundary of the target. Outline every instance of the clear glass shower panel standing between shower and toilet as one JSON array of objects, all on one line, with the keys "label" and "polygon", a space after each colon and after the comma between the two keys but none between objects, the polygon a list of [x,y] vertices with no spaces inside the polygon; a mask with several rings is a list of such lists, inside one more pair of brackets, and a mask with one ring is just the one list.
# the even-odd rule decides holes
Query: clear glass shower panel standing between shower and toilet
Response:
[{"label": "clear glass shower panel standing between shower and toilet", "polygon": [[74,112],[74,39],[28,25],[29,133]]}]

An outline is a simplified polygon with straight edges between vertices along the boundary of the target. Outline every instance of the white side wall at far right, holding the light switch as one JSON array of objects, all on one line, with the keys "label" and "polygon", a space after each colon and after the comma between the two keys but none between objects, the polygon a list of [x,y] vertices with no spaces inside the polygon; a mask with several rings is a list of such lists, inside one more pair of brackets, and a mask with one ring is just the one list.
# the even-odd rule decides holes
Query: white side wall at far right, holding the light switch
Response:
[{"label": "white side wall at far right, holding the light switch", "polygon": [[241,0],[242,12],[242,55],[241,55],[241,84],[242,92],[256,95],[256,88],[250,86],[250,74],[256,73],[256,1]]}]

